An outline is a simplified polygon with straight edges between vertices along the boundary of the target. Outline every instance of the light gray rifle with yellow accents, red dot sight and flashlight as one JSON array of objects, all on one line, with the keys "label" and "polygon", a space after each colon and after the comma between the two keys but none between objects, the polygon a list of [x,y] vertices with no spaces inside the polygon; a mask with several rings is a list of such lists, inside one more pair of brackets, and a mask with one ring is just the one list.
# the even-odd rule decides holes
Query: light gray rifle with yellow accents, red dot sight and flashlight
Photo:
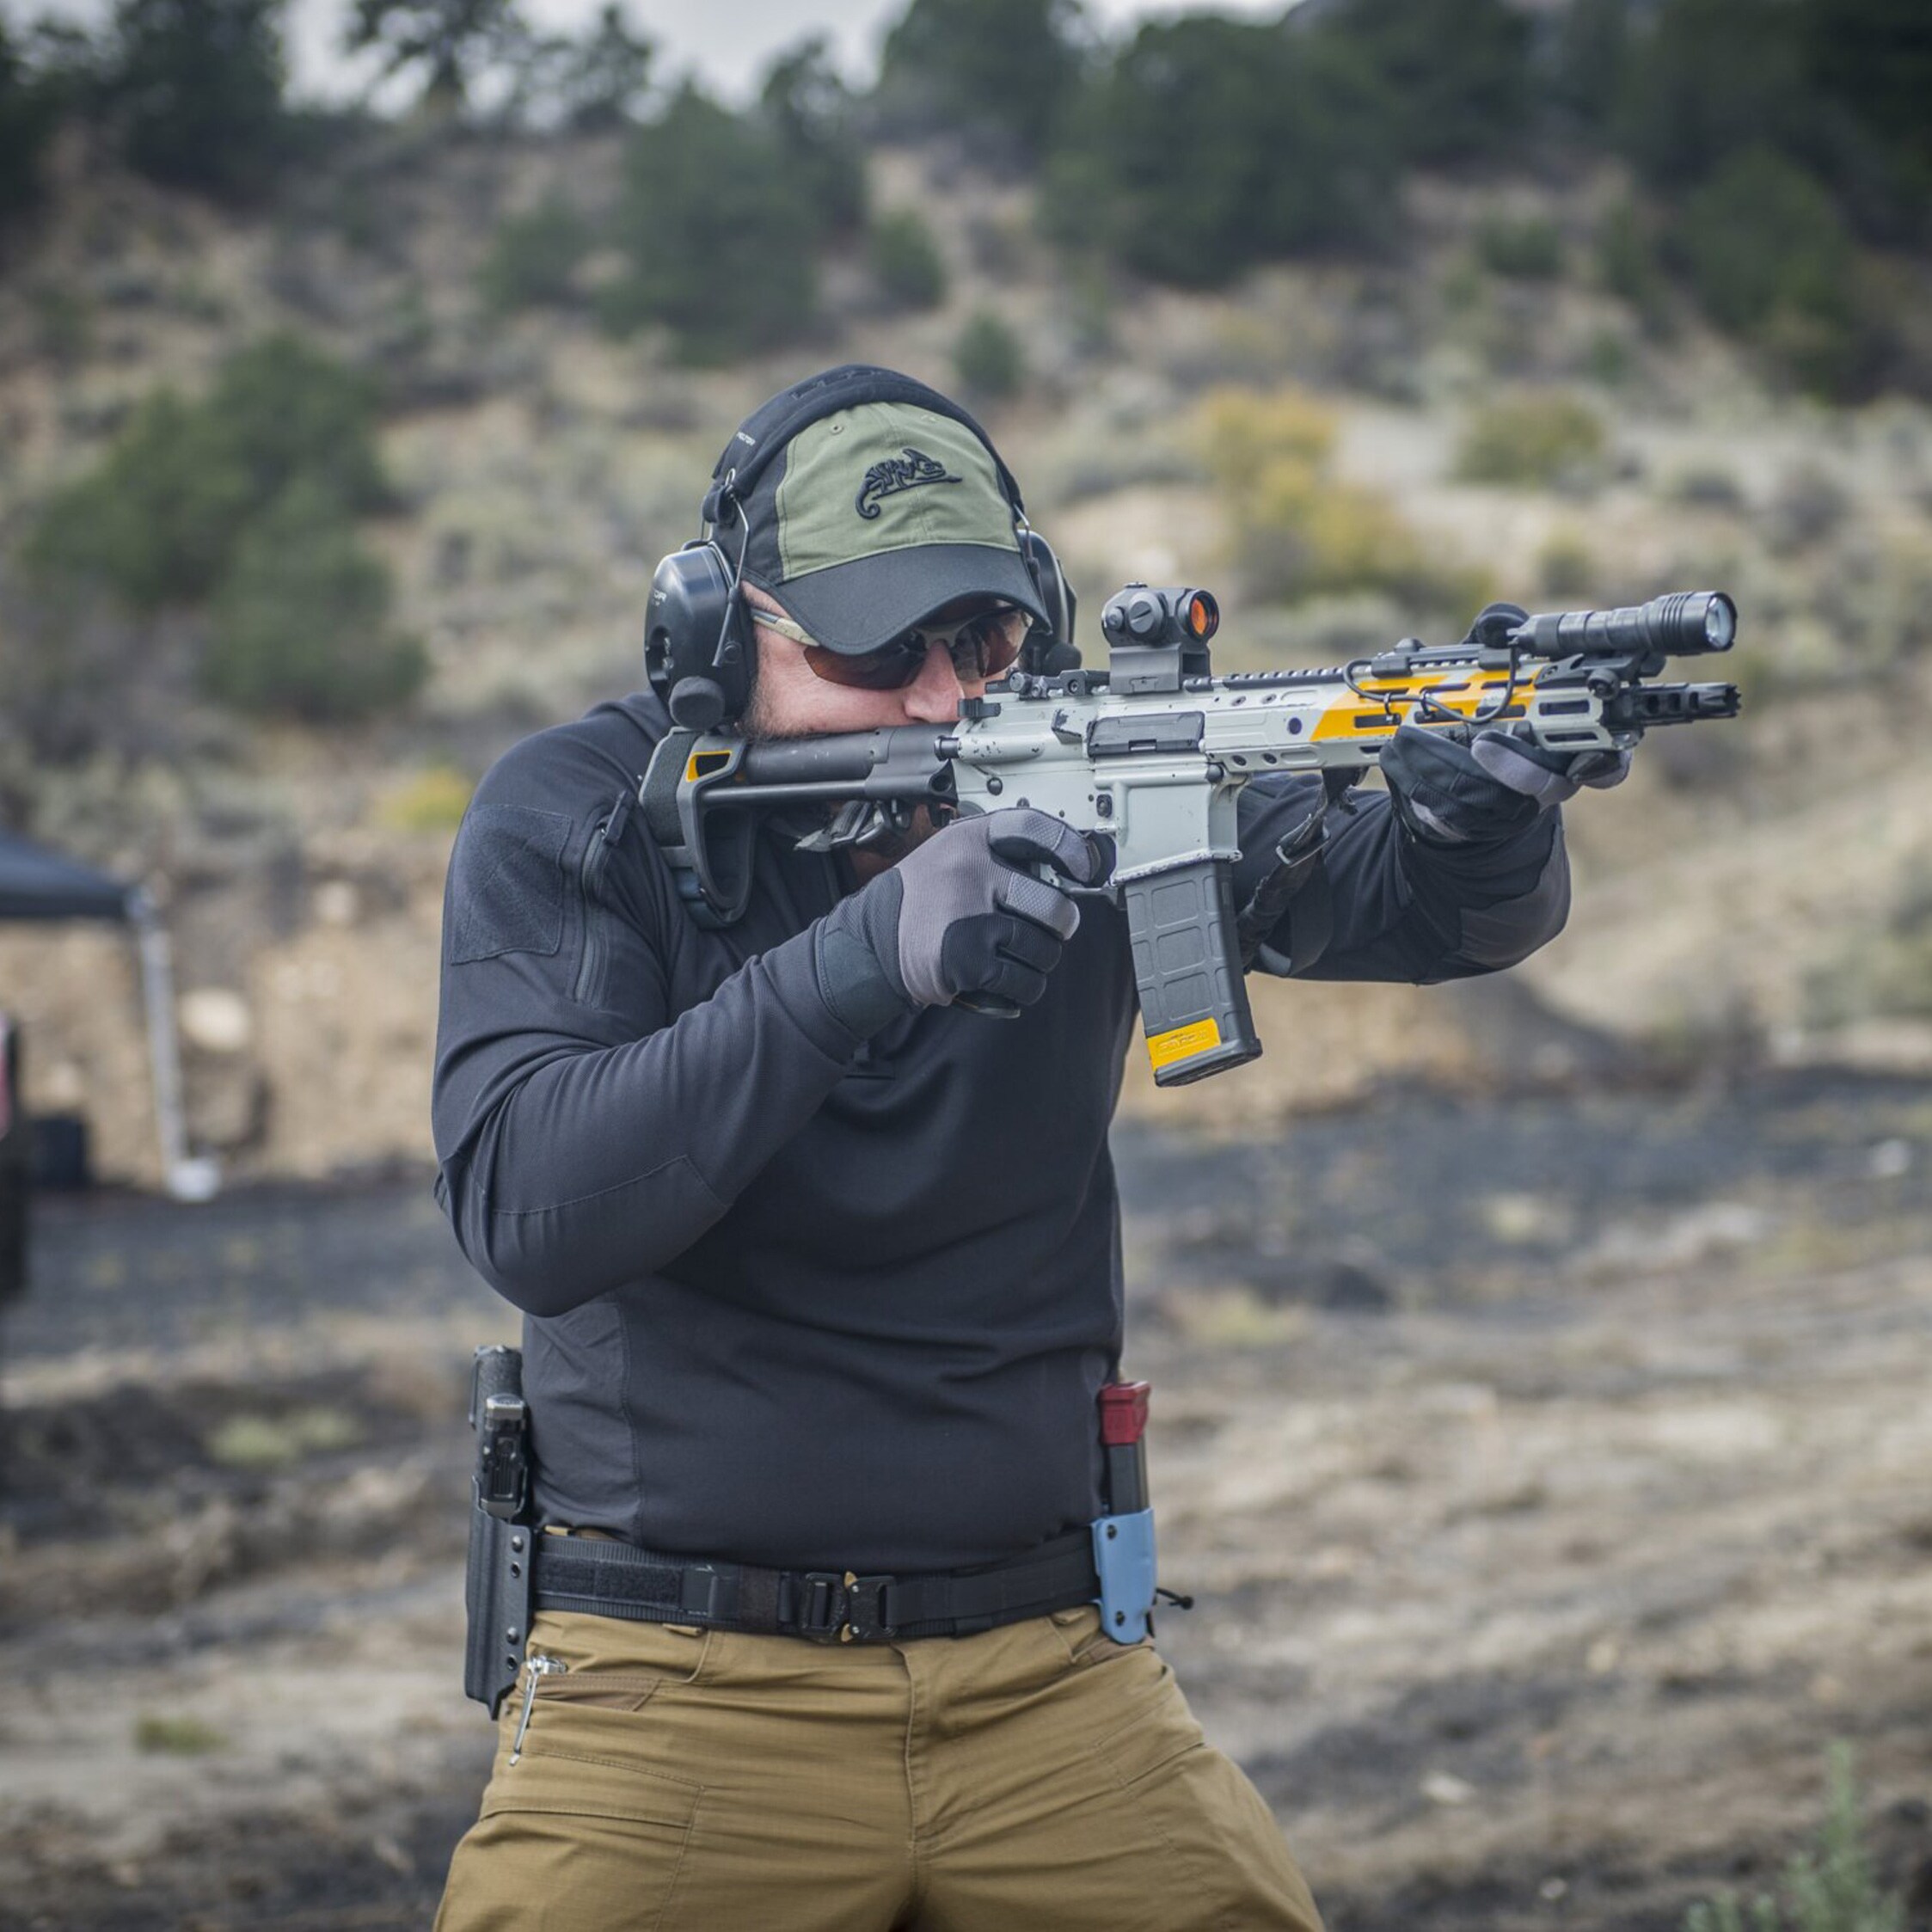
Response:
[{"label": "light gray rifle with yellow accents, red dot sight and flashlight", "polygon": [[[1101,612],[1105,670],[1014,672],[952,726],[763,742],[674,730],[641,786],[645,821],[711,927],[744,914],[757,823],[779,808],[842,806],[804,840],[821,850],[906,831],[920,808],[943,819],[1032,806],[1105,835],[1153,1078],[1179,1086],[1262,1051],[1242,970],[1306,877],[1325,804],[1401,724],[1590,752],[1739,707],[1735,684],[1650,682],[1671,657],[1731,649],[1737,609],[1719,591],[1546,616],[1492,605],[1461,643],[1406,638],[1333,670],[1227,678],[1208,665],[1219,620],[1208,591],[1130,583]],[[1235,802],[1269,771],[1321,773],[1323,802],[1236,912]]]}]

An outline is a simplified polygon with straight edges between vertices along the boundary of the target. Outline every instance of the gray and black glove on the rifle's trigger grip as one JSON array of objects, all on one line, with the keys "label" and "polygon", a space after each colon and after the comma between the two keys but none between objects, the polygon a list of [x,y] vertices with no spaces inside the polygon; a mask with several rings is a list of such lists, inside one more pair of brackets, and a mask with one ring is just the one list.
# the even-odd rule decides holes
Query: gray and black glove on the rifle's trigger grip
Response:
[{"label": "gray and black glove on the rifle's trigger grip", "polygon": [[1080,925],[1080,908],[1024,867],[1094,885],[1099,854],[1045,811],[956,819],[821,922],[819,991],[864,1036],[912,1007],[960,995],[1032,1007]]}]

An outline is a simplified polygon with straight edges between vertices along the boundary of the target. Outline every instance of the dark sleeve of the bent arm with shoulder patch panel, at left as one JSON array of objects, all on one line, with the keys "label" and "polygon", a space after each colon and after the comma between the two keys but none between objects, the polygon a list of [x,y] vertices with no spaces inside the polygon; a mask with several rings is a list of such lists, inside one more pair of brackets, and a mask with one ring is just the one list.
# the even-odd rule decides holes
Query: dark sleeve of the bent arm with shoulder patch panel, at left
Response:
[{"label": "dark sleeve of the bent arm with shoulder patch panel, at left", "polygon": [[545,732],[477,788],[444,893],[431,1115],[471,1265],[554,1316],[690,1248],[844,1076],[808,927],[672,1012],[678,945],[638,819],[591,891],[620,763]]}]

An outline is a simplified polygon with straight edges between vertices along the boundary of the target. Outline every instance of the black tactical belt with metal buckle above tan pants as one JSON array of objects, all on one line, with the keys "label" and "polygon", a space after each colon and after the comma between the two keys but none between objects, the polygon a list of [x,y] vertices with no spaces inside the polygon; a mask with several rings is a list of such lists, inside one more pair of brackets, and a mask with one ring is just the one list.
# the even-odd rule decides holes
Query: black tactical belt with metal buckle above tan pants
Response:
[{"label": "black tactical belt with metal buckle above tan pants", "polygon": [[806,1636],[819,1644],[972,1636],[1099,1598],[1094,1538],[1084,1528],[1005,1563],[922,1577],[697,1563],[585,1536],[539,1534],[533,1555],[537,1609]]}]

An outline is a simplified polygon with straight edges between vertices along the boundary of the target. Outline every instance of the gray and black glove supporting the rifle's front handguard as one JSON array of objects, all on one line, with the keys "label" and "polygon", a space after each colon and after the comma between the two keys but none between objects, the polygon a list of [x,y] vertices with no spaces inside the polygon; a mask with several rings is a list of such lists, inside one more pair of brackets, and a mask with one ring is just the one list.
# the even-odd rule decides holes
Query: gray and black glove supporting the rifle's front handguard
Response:
[{"label": "gray and black glove supporting the rifle's front handguard", "polygon": [[1381,777],[1401,821],[1424,844],[1492,844],[1536,823],[1538,813],[1588,784],[1621,784],[1629,752],[1546,752],[1505,730],[1461,746],[1405,724],[1381,753]]}]

